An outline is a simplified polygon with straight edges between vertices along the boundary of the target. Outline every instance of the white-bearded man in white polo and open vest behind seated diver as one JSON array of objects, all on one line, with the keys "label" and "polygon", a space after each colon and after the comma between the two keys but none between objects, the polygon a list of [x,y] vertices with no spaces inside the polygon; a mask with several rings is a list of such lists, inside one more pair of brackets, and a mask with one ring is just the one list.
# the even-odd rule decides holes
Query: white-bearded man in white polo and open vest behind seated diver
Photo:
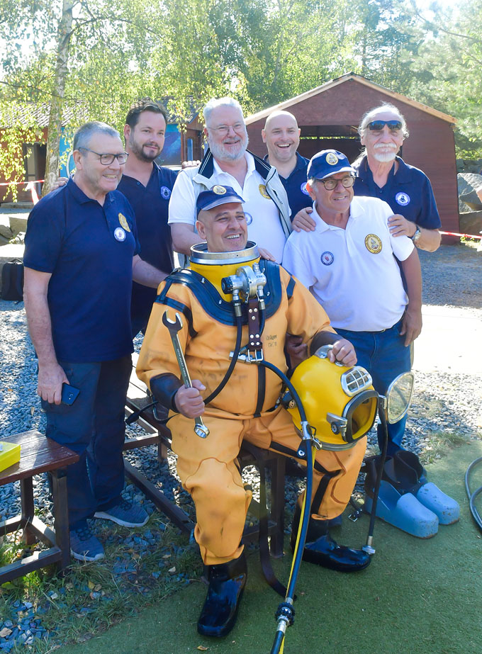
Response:
[{"label": "white-bearded man in white polo and open vest behind seated diver", "polygon": [[169,202],[174,250],[191,254],[198,236],[196,198],[202,191],[230,186],[245,198],[248,238],[265,259],[281,264],[291,232],[290,208],[276,168],[247,150],[247,131],[240,103],[234,98],[210,100],[203,110],[209,148],[201,165],[179,173]]}]

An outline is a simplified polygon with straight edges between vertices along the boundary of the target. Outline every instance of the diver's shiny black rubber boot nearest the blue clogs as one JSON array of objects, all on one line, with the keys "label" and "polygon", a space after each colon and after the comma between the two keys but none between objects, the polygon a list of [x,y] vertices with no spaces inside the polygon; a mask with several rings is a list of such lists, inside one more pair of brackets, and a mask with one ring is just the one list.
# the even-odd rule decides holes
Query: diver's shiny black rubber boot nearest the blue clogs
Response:
[{"label": "diver's shiny black rubber boot nearest the blue clogs", "polygon": [[[291,551],[294,551],[296,545],[300,517],[301,508],[296,504],[291,526]],[[363,570],[370,564],[370,555],[362,550],[338,545],[330,536],[326,521],[310,518],[303,561],[317,563],[323,568],[338,570],[340,573],[356,573],[357,570]]]}]

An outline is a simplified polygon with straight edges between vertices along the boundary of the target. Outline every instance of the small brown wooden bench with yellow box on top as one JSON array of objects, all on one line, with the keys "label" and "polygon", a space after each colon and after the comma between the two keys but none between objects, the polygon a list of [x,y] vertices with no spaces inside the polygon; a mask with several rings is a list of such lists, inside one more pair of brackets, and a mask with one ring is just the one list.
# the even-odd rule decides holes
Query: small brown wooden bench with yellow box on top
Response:
[{"label": "small brown wooden bench with yellow box on top", "polygon": [[[69,565],[70,536],[65,470],[71,463],[79,461],[78,454],[48,439],[36,429],[3,440],[21,445],[20,461],[0,472],[0,486],[20,481],[21,515],[1,521],[0,536],[20,528],[23,529],[23,539],[27,545],[39,540],[50,547],[0,568],[0,585],[51,563],[57,563],[59,571]],[[32,478],[33,475],[46,472],[52,475],[54,529],[50,529],[34,515]]]}]

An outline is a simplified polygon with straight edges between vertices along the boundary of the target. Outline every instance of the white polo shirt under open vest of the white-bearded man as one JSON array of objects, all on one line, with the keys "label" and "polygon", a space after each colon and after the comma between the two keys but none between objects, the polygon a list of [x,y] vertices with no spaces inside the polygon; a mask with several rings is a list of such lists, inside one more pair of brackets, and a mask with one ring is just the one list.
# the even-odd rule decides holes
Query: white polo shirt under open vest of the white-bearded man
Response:
[{"label": "white polo shirt under open vest of the white-bearded man", "polygon": [[[215,184],[231,186],[235,189],[245,203],[242,205],[247,214],[247,237],[259,247],[264,247],[281,264],[286,237],[279,220],[279,210],[269,197],[264,179],[254,167],[254,157],[245,153],[247,173],[243,186],[240,186],[235,177],[221,170],[213,159],[214,173],[209,178]],[[169,225],[174,222],[196,223],[196,193],[188,175],[179,173],[172,189],[169,201]]]}]

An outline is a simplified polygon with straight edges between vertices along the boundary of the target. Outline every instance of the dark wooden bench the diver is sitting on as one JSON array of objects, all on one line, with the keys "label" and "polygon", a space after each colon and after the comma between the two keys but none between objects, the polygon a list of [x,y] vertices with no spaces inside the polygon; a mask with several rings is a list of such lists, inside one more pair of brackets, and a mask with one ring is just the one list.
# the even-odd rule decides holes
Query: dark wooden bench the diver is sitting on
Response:
[{"label": "dark wooden bench the diver is sitting on", "polygon": [[[130,416],[133,412],[138,411],[140,408],[145,407],[150,403],[147,397],[146,385],[138,379],[135,374],[135,363],[137,362],[137,355],[133,354],[133,373],[130,377],[130,384],[128,390],[128,397],[125,405],[125,415]],[[161,407],[164,410],[164,407]],[[163,416],[166,416],[165,413]],[[145,436],[137,436],[133,439],[125,441],[124,450],[131,450],[146,445],[158,446],[158,458],[162,460],[167,456],[167,450],[171,449],[171,432],[166,425],[157,421],[152,408],[142,412],[138,419],[140,424],[146,432]],[[208,436],[209,438],[209,436]],[[262,462],[264,468],[271,473],[271,504],[268,514],[268,533],[270,539],[271,556],[283,556],[283,541],[284,541],[284,483],[285,483],[285,463],[286,457],[281,456],[275,452],[262,450],[250,446],[248,451],[245,447],[241,448],[238,462],[240,463],[241,470],[246,466],[258,466],[257,461]],[[255,456],[254,456],[255,455]],[[176,526],[182,531],[190,534],[194,529],[194,522],[188,514],[184,512],[177,504],[169,500],[164,493],[155,487],[149,480],[145,478],[142,473],[125,461],[125,475],[142,490],[142,492],[149,497],[157,508],[166,514]],[[255,514],[259,518],[259,502],[252,500],[250,504],[250,514]],[[259,529],[257,525],[247,527],[243,534],[245,541],[254,541],[259,536]]]}]

